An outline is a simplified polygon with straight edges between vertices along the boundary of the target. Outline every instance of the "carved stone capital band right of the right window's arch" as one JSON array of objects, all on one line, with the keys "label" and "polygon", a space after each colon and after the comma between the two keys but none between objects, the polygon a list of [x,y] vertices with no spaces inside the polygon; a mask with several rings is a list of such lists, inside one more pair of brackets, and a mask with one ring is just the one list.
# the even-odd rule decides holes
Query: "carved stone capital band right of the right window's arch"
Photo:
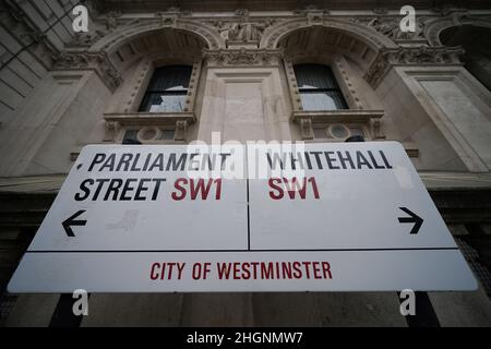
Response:
[{"label": "carved stone capital band right of the right window's arch", "polygon": [[384,48],[369,67],[364,79],[376,87],[391,67],[462,64],[458,57],[463,53],[462,47]]}]

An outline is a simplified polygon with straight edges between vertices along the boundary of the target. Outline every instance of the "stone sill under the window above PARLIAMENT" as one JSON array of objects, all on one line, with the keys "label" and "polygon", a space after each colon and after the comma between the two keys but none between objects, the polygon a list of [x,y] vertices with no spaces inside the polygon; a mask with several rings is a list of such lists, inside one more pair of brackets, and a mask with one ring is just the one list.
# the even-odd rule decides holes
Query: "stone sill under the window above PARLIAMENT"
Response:
[{"label": "stone sill under the window above PARLIAMENT", "polygon": [[109,112],[104,115],[106,122],[117,122],[127,125],[171,125],[178,121],[194,123],[194,112]]}]

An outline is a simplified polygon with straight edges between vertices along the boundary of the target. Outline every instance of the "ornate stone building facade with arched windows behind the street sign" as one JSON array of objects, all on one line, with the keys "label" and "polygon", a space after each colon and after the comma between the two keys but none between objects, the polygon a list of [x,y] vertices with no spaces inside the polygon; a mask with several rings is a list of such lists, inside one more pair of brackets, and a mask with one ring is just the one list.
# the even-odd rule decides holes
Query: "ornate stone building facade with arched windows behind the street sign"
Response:
[{"label": "ornate stone building facade with arched windows behind the street sign", "polygon": [[[428,293],[440,325],[491,325],[490,3],[414,1],[405,33],[406,1],[85,1],[89,31],[75,34],[77,3],[0,4],[2,290],[84,145],[363,135],[404,145],[480,281]],[[154,89],[166,67],[184,83]],[[328,67],[333,85],[312,92],[300,67]],[[344,107],[306,107],[315,94]],[[3,291],[1,322],[47,326],[59,304]],[[81,325],[406,326],[398,304],[395,292],[92,294]]]}]

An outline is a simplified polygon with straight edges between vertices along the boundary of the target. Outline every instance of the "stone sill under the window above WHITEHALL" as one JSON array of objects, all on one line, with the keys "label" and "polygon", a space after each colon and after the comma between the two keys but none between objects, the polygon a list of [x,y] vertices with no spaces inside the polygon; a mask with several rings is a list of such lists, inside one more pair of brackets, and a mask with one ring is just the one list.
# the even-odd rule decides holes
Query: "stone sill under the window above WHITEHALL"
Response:
[{"label": "stone sill under the window above WHITEHALL", "polygon": [[309,119],[312,123],[367,123],[372,119],[381,119],[383,110],[339,109],[320,111],[294,111],[291,121]]}]

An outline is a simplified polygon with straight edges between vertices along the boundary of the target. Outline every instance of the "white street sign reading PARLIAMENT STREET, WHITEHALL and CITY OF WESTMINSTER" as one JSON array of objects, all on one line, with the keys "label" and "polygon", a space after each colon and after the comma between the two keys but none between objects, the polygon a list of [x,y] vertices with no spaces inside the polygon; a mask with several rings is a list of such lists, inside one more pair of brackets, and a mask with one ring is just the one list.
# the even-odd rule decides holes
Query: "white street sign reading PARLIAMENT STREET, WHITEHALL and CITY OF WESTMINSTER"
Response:
[{"label": "white street sign reading PARLIAMENT STREET, WHITEHALL and CITY OF WESTMINSTER", "polygon": [[396,142],[86,146],[9,284],[11,292],[476,288]]}]

